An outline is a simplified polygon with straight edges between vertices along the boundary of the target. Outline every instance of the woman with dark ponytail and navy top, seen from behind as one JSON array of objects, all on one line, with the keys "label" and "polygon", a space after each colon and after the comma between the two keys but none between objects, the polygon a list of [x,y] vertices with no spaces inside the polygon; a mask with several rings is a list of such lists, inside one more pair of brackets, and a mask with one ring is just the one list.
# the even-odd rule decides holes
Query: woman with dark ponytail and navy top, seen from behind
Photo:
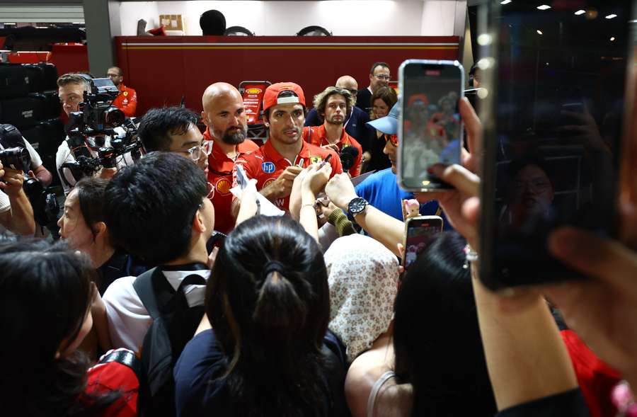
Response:
[{"label": "woman with dark ponytail and navy top, seen from behind", "polygon": [[175,367],[178,416],[347,415],[325,262],[297,222],[256,216],[229,234],[206,316]]}]

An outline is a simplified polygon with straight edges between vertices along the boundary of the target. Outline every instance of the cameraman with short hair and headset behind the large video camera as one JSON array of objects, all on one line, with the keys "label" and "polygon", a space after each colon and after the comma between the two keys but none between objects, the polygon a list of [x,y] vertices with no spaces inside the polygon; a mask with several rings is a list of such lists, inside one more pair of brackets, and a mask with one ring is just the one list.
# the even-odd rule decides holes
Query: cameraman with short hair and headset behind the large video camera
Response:
[{"label": "cameraman with short hair and headset behind the large video camera", "polygon": [[[94,118],[98,118],[99,122],[104,122],[104,120],[108,120],[109,116],[119,116],[122,120],[125,117],[123,113],[121,115],[114,114],[115,112],[121,113],[121,110],[108,105],[109,101],[105,100],[105,98],[108,98],[108,93],[99,91],[100,88],[94,86],[93,80],[86,74],[64,74],[57,79],[57,86],[59,101],[62,103],[64,113],[69,115],[69,124],[71,122],[79,122],[79,125],[76,126],[78,129],[74,132],[74,135],[67,136],[67,139],[59,145],[55,155],[57,174],[62,182],[64,195],[67,195],[81,176],[96,175],[101,178],[111,178],[117,172],[117,168],[131,165],[134,161],[130,152],[126,152],[123,156],[120,154],[113,155],[113,158],[115,158],[113,166],[105,166],[103,163],[101,150],[110,148],[111,141],[115,137],[122,138],[127,135],[127,130],[121,126],[105,131],[91,130],[96,128],[94,126],[96,125]],[[112,83],[111,87],[115,93],[117,87]],[[89,102],[84,106],[80,106],[81,103],[87,101],[86,96],[88,94],[85,96],[85,93],[90,93],[94,97],[93,99],[99,101],[99,103]],[[99,108],[96,108],[96,105]],[[84,114],[78,115],[76,112]],[[82,118],[81,121],[79,121],[80,117]],[[87,119],[91,120],[86,122]],[[130,122],[130,120],[128,121]],[[104,124],[108,125],[108,122]],[[67,130],[69,130],[69,127],[71,126],[67,125]],[[72,146],[71,143],[73,143]],[[75,173],[71,171],[71,168],[64,166],[64,164],[74,164],[79,159],[83,159],[87,165],[80,167],[81,173]]]}]

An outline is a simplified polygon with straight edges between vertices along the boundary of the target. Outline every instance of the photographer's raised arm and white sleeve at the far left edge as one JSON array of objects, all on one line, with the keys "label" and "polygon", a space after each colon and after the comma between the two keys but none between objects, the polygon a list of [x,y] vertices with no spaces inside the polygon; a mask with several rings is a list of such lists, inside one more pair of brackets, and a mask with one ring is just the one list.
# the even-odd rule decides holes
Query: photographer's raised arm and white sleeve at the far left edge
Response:
[{"label": "photographer's raised arm and white sleeve at the far left edge", "polygon": [[27,198],[22,183],[22,171],[4,168],[0,163],[0,224],[10,232],[28,236],[35,233],[33,208]]}]

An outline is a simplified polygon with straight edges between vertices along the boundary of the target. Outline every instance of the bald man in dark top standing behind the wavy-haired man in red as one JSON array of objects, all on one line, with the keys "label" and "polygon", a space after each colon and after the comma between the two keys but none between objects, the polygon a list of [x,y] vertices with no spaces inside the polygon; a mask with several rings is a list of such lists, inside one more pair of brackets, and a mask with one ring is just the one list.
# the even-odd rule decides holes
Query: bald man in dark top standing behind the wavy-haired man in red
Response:
[{"label": "bald man in dark top standing behind the wavy-haired man in red", "polygon": [[[349,75],[341,76],[338,80],[336,80],[335,86],[345,88],[345,90],[352,93],[352,96],[356,97],[358,83],[354,77]],[[323,118],[321,118],[319,113],[316,112],[315,108],[310,110],[305,117],[306,126],[321,126],[323,125],[323,122]],[[345,128],[345,132],[360,143],[363,152],[367,152],[372,144],[372,139],[376,139],[376,132],[367,127],[367,122],[369,122],[369,115],[360,108],[352,106],[350,114],[345,117],[345,125],[343,126]]]}]

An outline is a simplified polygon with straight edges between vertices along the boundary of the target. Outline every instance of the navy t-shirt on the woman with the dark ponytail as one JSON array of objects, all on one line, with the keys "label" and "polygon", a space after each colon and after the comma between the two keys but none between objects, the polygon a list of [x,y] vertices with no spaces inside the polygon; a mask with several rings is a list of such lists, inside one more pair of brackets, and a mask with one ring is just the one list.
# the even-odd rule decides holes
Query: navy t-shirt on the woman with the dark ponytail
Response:
[{"label": "navy t-shirt on the woman with the dark ponytail", "polygon": [[[345,416],[347,406],[343,393],[345,384],[345,348],[331,331],[323,338],[323,374],[331,391],[325,399],[331,415]],[[183,349],[175,368],[175,403],[178,417],[234,416],[234,401],[222,378],[228,358],[212,329],[202,331]]]}]

